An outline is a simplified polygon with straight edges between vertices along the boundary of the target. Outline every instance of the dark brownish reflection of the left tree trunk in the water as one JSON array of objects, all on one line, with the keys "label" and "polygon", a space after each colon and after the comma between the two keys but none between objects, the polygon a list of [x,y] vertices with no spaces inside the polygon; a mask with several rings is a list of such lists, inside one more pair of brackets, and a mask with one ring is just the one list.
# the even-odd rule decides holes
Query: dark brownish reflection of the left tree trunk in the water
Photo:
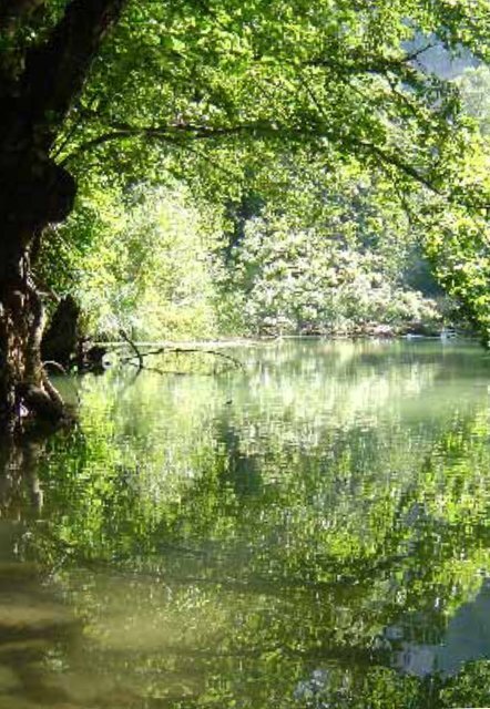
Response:
[{"label": "dark brownish reflection of the left tree trunk in the water", "polygon": [[[0,707],[58,707],[69,695],[57,686],[57,665],[80,637],[73,613],[50,579],[52,564],[29,551],[43,541],[39,464],[47,440],[34,432],[0,446]],[[39,545],[39,547],[38,547]],[[50,559],[58,563],[59,558]],[[38,705],[35,702],[41,702]],[[32,702],[32,703],[31,703]]]}]

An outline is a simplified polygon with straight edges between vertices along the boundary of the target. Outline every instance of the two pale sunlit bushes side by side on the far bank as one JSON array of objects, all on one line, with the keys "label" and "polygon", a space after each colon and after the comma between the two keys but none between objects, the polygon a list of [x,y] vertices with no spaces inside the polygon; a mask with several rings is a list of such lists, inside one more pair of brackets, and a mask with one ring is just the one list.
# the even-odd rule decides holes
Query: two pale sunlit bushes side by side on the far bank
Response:
[{"label": "two pale sunlit bushes side by side on the far bank", "polygon": [[443,301],[405,214],[386,206],[388,186],[350,169],[340,179],[320,196],[304,176],[282,209],[249,199],[256,214],[246,199],[197,208],[178,185],[92,189],[50,234],[42,280],[75,295],[99,337],[438,331]]}]

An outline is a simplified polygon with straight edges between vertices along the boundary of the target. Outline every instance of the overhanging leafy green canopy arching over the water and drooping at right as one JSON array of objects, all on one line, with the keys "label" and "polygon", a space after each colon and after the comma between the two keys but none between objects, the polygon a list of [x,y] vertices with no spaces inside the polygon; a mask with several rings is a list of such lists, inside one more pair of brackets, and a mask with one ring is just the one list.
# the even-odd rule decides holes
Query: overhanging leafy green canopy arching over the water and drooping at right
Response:
[{"label": "overhanging leafy green canopy arching over the water and drooping at right", "polygon": [[[44,7],[4,43],[42,41],[67,3]],[[285,155],[296,168],[315,161],[319,179],[357,162],[415,210],[440,279],[488,339],[481,137],[459,88],[423,64],[435,43],[488,60],[486,0],[124,7],[53,148],[82,189],[96,174],[106,184],[173,175],[220,201],[251,178],[279,192]]]}]

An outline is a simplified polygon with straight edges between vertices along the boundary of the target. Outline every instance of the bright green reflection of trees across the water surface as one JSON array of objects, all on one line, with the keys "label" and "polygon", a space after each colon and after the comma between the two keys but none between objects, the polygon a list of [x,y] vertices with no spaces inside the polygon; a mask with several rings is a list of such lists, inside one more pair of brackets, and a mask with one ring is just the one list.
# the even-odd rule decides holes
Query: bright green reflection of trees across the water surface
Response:
[{"label": "bright green reflection of trees across the water surface", "polygon": [[186,709],[421,709],[450,706],[443,692],[462,697],[476,675],[483,686],[481,662],[452,679],[392,666],[407,644],[440,643],[488,567],[486,401],[423,430],[402,415],[339,425],[314,411],[308,422],[300,390],[283,408],[284,373],[268,409],[264,391],[225,404],[226,378],[194,393],[154,382],[135,409],[131,390],[118,405],[91,389],[83,428],[37,469],[49,494],[43,525],[27,515],[25,548],[83,618],[72,670],[104,668],[131,696]]}]

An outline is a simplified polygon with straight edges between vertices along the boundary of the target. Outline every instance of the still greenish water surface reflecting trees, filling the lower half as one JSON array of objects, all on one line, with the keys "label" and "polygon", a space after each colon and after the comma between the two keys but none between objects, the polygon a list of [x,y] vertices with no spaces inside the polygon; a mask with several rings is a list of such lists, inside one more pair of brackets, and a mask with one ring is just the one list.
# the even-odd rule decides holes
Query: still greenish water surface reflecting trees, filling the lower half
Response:
[{"label": "still greenish water surface reflecting trees, filling the lower half", "polygon": [[3,451],[0,709],[490,706],[489,357],[233,354]]}]

